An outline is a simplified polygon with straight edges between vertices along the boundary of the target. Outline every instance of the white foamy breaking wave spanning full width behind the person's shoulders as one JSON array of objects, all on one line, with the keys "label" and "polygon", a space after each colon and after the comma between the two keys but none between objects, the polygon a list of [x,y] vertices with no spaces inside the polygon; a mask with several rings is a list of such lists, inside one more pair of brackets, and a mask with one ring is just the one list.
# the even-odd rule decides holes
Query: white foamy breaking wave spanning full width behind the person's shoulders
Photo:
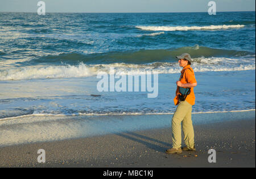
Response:
[{"label": "white foamy breaking wave spanning full width behind the person's shoulders", "polygon": [[[252,62],[254,61],[254,62]],[[27,80],[36,78],[76,78],[96,76],[98,73],[108,73],[110,67],[115,68],[116,74],[146,74],[152,73],[180,73],[176,63],[154,62],[148,64],[97,64],[86,65],[55,65],[55,66],[28,66],[23,68],[11,68],[0,70],[0,81],[5,80]],[[228,59],[225,57],[200,57],[193,59],[192,64],[195,72],[220,72],[255,70],[255,59]]]}]

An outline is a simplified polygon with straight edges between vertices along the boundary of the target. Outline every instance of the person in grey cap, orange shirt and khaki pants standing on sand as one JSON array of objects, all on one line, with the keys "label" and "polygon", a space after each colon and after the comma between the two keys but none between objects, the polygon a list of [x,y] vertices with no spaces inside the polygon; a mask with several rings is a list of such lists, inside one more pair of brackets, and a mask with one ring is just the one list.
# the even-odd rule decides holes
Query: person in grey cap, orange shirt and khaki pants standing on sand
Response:
[{"label": "person in grey cap, orange shirt and khaki pants standing on sand", "polygon": [[[182,153],[182,151],[195,151],[194,130],[191,119],[192,105],[195,105],[195,94],[193,88],[197,85],[195,73],[191,68],[191,56],[183,53],[176,57],[179,59],[181,70],[180,80],[176,81],[177,89],[174,103],[177,109],[172,116],[172,148],[167,149],[166,153]],[[190,93],[181,94],[181,89]],[[181,123],[184,133],[184,143],[186,147],[181,148]]]}]

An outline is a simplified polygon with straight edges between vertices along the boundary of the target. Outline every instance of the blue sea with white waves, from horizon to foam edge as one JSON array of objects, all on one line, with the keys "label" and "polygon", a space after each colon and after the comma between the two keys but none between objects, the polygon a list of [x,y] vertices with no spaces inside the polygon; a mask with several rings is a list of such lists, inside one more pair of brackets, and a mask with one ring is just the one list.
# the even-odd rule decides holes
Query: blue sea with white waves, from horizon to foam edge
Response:
[{"label": "blue sea with white waves, from horizon to foam edge", "polygon": [[[255,109],[255,12],[0,13],[0,119],[174,113],[175,56],[185,52],[193,113]],[[158,97],[98,91],[110,67],[158,73]]]}]

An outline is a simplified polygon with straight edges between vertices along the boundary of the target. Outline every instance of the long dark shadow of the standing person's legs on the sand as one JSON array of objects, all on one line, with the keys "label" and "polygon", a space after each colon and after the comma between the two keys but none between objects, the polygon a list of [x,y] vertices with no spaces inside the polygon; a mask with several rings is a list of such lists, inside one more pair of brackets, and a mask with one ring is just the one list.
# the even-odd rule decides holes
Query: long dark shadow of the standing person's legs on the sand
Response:
[{"label": "long dark shadow of the standing person's legs on the sand", "polygon": [[[146,145],[150,149],[153,149],[155,151],[162,152],[162,153],[164,153],[168,147],[170,148],[170,145],[171,145],[164,141],[160,141],[154,138],[149,138],[148,136],[137,134],[135,132],[122,132],[122,133],[116,133],[115,135],[122,136],[123,138],[129,139],[129,140],[137,141],[138,143]],[[160,145],[166,145],[166,147],[162,147],[160,145],[150,143],[149,141],[146,141],[146,140],[152,141],[153,143],[159,143]]]}]

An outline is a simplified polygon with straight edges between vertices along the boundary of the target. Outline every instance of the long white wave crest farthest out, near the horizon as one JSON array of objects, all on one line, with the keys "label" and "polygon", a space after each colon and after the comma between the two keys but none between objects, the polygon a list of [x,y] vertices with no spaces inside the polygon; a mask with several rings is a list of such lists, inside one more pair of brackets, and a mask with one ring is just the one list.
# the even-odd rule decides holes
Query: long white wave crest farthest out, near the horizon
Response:
[{"label": "long white wave crest farthest out, near the horizon", "polygon": [[228,28],[242,28],[245,25],[219,25],[219,26],[135,26],[144,31],[188,31],[188,30],[221,30]]}]

